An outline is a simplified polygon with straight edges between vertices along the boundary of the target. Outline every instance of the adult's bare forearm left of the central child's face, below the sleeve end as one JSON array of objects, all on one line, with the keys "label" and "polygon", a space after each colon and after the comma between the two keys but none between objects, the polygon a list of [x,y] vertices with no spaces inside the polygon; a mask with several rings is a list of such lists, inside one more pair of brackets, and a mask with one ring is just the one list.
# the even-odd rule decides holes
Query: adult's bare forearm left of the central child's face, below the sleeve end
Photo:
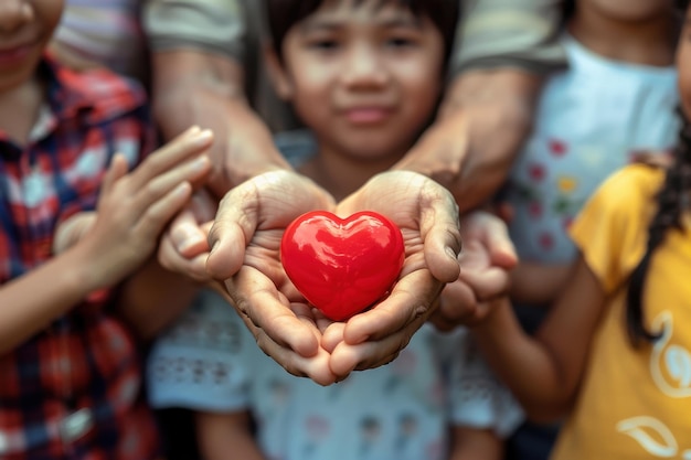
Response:
[{"label": "adult's bare forearm left of the central child's face, below the sleeve end", "polygon": [[[245,97],[240,63],[185,49],[155,53],[152,63],[153,111],[164,139],[192,125],[214,132],[210,184],[217,196],[263,172],[290,168]],[[258,147],[238,147],[231,137],[238,132],[252,137]]]}]

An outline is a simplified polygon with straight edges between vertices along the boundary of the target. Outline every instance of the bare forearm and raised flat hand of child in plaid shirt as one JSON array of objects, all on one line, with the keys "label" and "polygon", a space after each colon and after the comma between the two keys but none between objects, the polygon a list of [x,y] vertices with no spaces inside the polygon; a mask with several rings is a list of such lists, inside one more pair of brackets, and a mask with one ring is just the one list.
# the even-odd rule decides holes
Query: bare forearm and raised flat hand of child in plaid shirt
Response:
[{"label": "bare forearm and raised flat hand of child in plaid shirt", "polygon": [[0,353],[89,292],[120,282],[153,254],[163,226],[189,200],[191,182],[208,173],[209,159],[201,152],[210,140],[209,133],[190,130],[131,173],[125,158],[115,157],[89,229],[45,265],[0,287]]}]

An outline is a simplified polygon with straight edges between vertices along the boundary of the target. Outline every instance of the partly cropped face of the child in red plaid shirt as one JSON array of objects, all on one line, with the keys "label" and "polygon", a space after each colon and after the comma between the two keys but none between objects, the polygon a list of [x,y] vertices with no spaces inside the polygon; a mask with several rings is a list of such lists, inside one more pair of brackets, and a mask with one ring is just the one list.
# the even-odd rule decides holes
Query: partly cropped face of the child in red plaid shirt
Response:
[{"label": "partly cropped face of the child in red plaid shirt", "polygon": [[33,76],[62,11],[63,0],[0,0],[0,93]]}]

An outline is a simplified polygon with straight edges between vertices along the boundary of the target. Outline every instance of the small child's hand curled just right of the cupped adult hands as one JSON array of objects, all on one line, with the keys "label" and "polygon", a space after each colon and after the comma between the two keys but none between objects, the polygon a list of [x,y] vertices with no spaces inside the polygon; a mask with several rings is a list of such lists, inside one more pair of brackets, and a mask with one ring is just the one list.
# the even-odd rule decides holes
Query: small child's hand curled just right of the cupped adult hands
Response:
[{"label": "small child's hand curled just right of the cupped adult hands", "polygon": [[500,217],[475,211],[461,218],[461,235],[460,275],[446,285],[439,308],[430,319],[443,331],[481,321],[490,301],[508,292],[510,270],[518,264],[507,225]]}]

